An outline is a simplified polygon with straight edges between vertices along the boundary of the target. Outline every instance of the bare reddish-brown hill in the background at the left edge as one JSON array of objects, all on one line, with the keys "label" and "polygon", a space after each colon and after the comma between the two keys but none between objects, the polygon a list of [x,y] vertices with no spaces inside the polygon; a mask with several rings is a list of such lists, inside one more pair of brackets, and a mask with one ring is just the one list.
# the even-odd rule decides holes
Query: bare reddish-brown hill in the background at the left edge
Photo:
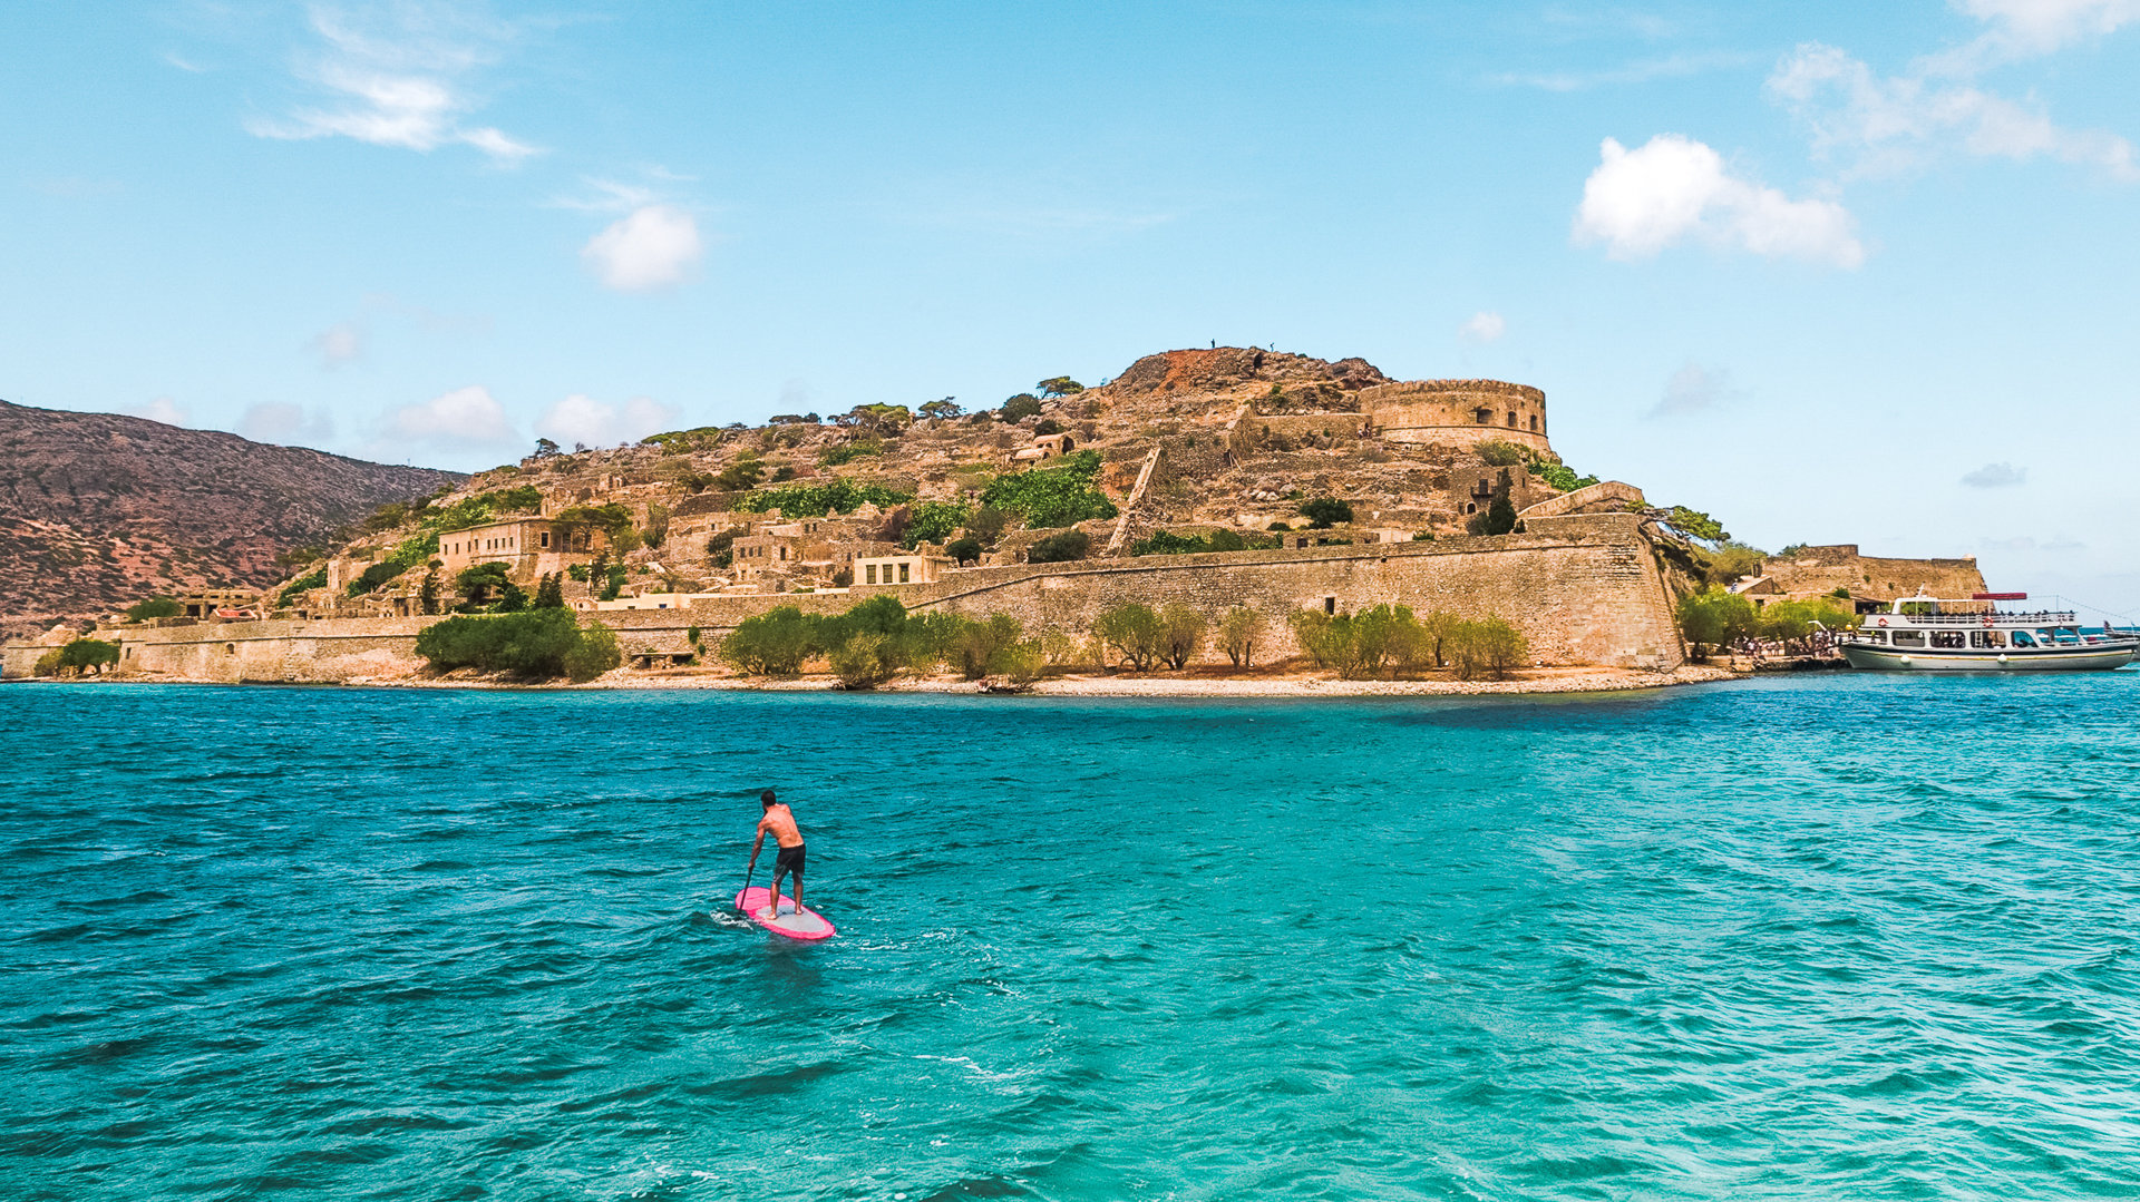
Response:
[{"label": "bare reddish-brown hill in the background at the left edge", "polygon": [[0,616],[49,627],[154,595],[268,586],[285,552],[460,479],[0,402]]}]

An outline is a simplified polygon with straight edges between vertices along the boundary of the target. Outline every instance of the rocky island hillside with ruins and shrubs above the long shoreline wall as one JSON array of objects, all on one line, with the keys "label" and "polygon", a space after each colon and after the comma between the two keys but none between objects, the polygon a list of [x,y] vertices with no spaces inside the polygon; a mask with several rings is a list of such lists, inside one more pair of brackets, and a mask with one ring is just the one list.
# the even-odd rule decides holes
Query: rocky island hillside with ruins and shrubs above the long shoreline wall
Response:
[{"label": "rocky island hillside with ruins and shrubs above the long shoreline wall", "polygon": [[[1021,563],[1066,526],[1085,535],[1083,556],[1269,548],[1280,530],[1310,522],[1305,503],[1325,505],[1320,541],[1449,537],[1496,496],[1522,509],[1590,483],[1545,445],[1534,389],[1423,381],[1432,396],[1468,398],[1444,413],[1462,428],[1406,438],[1372,400],[1393,387],[1404,385],[1365,359],[1213,346],[1147,355],[1096,387],[1042,381],[1038,396],[976,413],[952,398],[862,404],[676,430],[636,447],[546,447],[428,507],[383,513],[317,580],[285,588],[278,605],[413,612],[424,573],[407,569],[443,560],[449,586],[471,550],[454,530],[505,518],[606,526],[618,556],[603,552],[603,571],[623,573],[618,584],[631,590],[783,592],[847,584],[841,565],[897,548],[944,554],[965,543],[959,554],[972,556],[978,543],[982,565]],[[1526,411],[1522,428],[1513,402],[1496,400],[1513,394],[1530,394],[1524,404],[1539,413]],[[1327,518],[1331,509],[1350,518]],[[539,539],[486,528],[477,545],[524,543],[526,563],[514,571],[533,575],[563,563],[537,554],[552,545]],[[580,535],[569,539],[580,550]],[[1297,539],[1288,535],[1288,545]],[[1061,548],[1049,554],[1059,558]],[[407,575],[377,592],[347,586],[379,563]],[[565,590],[584,597],[599,582],[586,575],[586,556],[574,567]]]}]

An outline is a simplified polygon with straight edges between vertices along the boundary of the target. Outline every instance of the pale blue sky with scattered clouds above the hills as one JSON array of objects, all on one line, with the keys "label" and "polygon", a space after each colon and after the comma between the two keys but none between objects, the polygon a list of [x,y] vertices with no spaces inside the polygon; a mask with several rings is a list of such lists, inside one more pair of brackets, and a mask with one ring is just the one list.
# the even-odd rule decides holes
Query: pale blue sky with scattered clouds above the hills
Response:
[{"label": "pale blue sky with scattered clouds above the hills", "polygon": [[2140,2],[0,6],[0,398],[479,468],[1171,346],[2140,614]]}]

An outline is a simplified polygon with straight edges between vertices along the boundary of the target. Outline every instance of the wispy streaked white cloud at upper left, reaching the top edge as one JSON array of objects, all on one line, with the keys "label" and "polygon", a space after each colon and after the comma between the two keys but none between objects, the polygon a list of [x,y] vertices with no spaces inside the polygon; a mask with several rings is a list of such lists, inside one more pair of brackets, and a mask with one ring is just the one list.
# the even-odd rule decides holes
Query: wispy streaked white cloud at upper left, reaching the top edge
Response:
[{"label": "wispy streaked white cloud at upper left, reaching the top edge", "polygon": [[327,107],[306,107],[280,120],[250,120],[257,137],[351,137],[372,145],[439,150],[473,145],[494,163],[511,165],[537,154],[492,126],[462,124],[477,107],[469,75],[494,58],[509,30],[449,4],[389,4],[364,15],[312,9],[312,32],[323,47],[297,75],[332,96]]}]

